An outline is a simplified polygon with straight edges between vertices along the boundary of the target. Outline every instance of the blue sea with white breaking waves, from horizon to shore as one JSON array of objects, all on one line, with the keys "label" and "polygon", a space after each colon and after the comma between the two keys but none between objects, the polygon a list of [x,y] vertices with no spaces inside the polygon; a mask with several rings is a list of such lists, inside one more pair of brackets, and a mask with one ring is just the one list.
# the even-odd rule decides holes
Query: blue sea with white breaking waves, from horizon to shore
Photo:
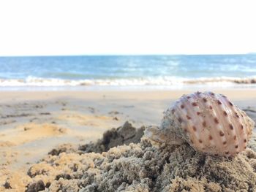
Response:
[{"label": "blue sea with white breaking waves, from horizon to shore", "polygon": [[1,90],[255,88],[255,80],[255,54],[0,57]]}]

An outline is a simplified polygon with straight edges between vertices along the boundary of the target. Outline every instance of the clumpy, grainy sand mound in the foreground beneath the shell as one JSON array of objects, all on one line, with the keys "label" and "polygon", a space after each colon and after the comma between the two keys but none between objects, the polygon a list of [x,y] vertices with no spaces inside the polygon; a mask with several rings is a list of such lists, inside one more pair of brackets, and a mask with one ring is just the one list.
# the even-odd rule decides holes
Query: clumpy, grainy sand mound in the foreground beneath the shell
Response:
[{"label": "clumpy, grainy sand mound in the foreground beneath the shell", "polygon": [[[27,191],[256,191],[252,149],[235,158],[221,158],[197,153],[189,145],[157,147],[141,139],[107,152],[85,153],[102,149],[99,146],[107,138],[121,136],[105,133],[104,137],[84,151],[62,146],[62,151],[31,166],[30,182],[24,183]],[[255,139],[249,147],[255,149]],[[12,183],[5,185],[12,188]]]}]

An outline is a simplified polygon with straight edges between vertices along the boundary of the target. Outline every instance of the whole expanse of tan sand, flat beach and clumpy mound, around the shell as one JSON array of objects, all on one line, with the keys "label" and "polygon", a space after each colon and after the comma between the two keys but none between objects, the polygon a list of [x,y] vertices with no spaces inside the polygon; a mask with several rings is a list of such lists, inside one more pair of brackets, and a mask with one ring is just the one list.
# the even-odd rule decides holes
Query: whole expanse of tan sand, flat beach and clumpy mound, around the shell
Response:
[{"label": "whole expanse of tan sand, flat beach and clumpy mound, around the shell", "polygon": [[[239,93],[250,97],[230,93],[234,103],[256,120],[256,91]],[[235,158],[143,137],[179,93],[5,94],[0,191],[256,191],[255,134]]]}]

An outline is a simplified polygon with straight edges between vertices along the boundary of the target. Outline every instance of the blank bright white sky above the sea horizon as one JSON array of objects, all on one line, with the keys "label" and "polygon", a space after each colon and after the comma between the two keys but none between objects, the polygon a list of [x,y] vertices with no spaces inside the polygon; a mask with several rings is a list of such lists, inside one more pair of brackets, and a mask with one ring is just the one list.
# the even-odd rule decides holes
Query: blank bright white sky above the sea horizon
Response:
[{"label": "blank bright white sky above the sea horizon", "polygon": [[256,1],[0,1],[0,56],[256,53]]}]

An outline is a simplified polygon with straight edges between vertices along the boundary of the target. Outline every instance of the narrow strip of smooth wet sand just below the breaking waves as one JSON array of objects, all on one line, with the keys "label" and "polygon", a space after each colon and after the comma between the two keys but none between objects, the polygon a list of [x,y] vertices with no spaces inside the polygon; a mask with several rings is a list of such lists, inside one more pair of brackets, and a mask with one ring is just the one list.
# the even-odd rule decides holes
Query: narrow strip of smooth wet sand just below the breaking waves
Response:
[{"label": "narrow strip of smooth wet sand just below the breaking waves", "polygon": [[182,94],[192,93],[195,91],[213,91],[223,93],[231,99],[252,99],[256,97],[255,88],[187,88],[179,90],[22,90],[19,91],[0,91],[0,103],[5,101],[25,101],[25,100],[43,100],[56,98],[73,98],[73,99],[104,99],[110,96],[110,99],[178,99]]}]

